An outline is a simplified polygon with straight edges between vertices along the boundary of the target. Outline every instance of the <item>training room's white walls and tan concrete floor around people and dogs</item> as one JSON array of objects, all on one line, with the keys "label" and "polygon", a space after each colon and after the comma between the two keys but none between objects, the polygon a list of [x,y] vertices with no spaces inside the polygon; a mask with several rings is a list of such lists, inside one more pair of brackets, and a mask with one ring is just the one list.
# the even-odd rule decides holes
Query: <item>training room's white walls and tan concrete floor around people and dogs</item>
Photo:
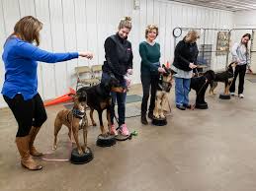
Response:
[{"label": "training room's white walls and tan concrete floor around people and dogs", "polygon": [[[79,66],[102,65],[104,41],[118,31],[125,16],[131,17],[128,40],[132,45],[133,74],[128,90],[127,125],[132,139],[113,147],[96,146],[100,134],[89,119],[88,146],[94,159],[75,165],[68,161],[70,141],[67,128],[59,132],[59,147],[51,151],[56,113],[67,102],[46,106],[47,120],[36,140],[36,146],[50,159],[37,159],[43,170],[29,171],[21,167],[14,143],[17,122],[0,96],[0,188],[1,190],[161,190],[161,191],[254,191],[256,188],[256,4],[253,0],[1,0],[0,52],[14,25],[32,15],[43,22],[41,45],[52,52],[91,51],[92,60],[79,58],[48,64],[39,62],[39,93],[43,101],[75,90]],[[172,64],[174,48],[191,30],[199,32],[199,58],[204,71],[225,70],[231,62],[230,47],[244,33],[249,42],[251,69],[246,74],[244,98],[220,99],[224,90],[218,83],[215,95],[206,93],[208,109],[181,111],[175,107],[175,85],[168,99],[171,112],[167,125],[140,123],[142,87],[138,45],[145,40],[145,28],[159,28],[160,63]],[[176,30],[175,30],[176,29]],[[181,32],[177,35],[176,32]],[[221,38],[221,35],[225,35]],[[227,38],[226,38],[227,36]],[[221,41],[222,40],[222,41]],[[221,42],[227,44],[221,44]],[[220,48],[220,49],[219,49]],[[224,49],[221,49],[224,48]],[[5,67],[0,61],[0,89]],[[238,84],[238,81],[237,81]],[[132,97],[139,96],[140,98]],[[190,92],[190,102],[196,100]],[[89,116],[89,111],[87,112]],[[107,127],[106,114],[103,114]],[[81,136],[81,135],[79,135]],[[52,160],[51,160],[52,159]]]}]

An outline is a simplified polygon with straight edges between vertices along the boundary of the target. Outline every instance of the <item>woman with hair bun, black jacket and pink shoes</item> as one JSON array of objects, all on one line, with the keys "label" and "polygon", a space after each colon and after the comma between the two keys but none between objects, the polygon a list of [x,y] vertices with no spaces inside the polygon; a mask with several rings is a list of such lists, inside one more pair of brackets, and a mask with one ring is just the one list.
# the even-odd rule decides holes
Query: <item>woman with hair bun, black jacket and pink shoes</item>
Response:
[{"label": "woman with hair bun, black jacket and pink shoes", "polygon": [[[106,81],[114,75],[122,86],[128,86],[127,74],[132,74],[132,51],[131,43],[128,41],[128,33],[131,30],[131,19],[125,17],[119,24],[119,31],[109,36],[105,40],[105,58],[103,65],[102,82]],[[128,127],[126,125],[126,98],[127,93],[112,93],[112,108],[111,108],[111,134],[117,135],[114,125],[115,104],[118,100],[119,113],[119,129],[122,135],[128,136]]]}]

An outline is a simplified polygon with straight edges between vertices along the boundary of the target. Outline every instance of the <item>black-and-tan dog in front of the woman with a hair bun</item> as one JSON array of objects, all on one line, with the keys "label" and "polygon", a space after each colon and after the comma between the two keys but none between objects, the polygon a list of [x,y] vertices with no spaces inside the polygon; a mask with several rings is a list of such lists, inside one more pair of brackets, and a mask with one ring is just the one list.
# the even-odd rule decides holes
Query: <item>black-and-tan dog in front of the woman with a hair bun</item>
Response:
[{"label": "black-and-tan dog in front of the woman with a hair bun", "polygon": [[117,80],[114,76],[111,76],[109,80],[101,82],[101,84],[93,87],[83,87],[77,91],[77,93],[85,92],[87,94],[87,105],[90,107],[90,118],[93,126],[96,126],[96,123],[93,119],[93,111],[97,110],[100,121],[100,128],[103,135],[107,135],[107,131],[103,126],[102,121],[102,112],[107,109],[107,119],[108,126],[110,131],[111,126],[111,116],[110,109],[112,104],[111,92],[115,93],[124,93],[126,89],[121,87],[120,81]]}]

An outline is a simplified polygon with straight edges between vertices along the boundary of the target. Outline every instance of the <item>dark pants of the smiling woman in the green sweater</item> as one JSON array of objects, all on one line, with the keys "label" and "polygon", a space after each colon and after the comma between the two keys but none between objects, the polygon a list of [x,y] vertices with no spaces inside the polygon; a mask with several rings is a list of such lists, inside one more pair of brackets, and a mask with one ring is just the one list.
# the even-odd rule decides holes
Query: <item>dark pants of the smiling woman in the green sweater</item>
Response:
[{"label": "dark pants of the smiling woman in the green sweater", "polygon": [[147,100],[149,97],[149,92],[151,88],[151,96],[150,96],[150,104],[149,104],[149,112],[153,112],[155,105],[155,96],[159,81],[159,75],[140,75],[142,89],[143,89],[143,97],[141,102],[141,115],[145,115],[147,111]]}]

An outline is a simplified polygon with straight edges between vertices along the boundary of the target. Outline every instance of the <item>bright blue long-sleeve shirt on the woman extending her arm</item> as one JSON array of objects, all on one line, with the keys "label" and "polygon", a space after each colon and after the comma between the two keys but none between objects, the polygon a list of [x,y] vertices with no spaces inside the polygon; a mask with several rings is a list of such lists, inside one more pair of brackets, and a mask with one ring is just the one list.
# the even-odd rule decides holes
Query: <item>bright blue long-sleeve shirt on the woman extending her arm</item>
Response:
[{"label": "bright blue long-sleeve shirt on the woman extending her arm", "polygon": [[16,36],[7,39],[2,59],[5,81],[2,95],[13,98],[22,94],[25,100],[38,94],[38,62],[55,63],[78,58],[78,52],[50,53]]}]

